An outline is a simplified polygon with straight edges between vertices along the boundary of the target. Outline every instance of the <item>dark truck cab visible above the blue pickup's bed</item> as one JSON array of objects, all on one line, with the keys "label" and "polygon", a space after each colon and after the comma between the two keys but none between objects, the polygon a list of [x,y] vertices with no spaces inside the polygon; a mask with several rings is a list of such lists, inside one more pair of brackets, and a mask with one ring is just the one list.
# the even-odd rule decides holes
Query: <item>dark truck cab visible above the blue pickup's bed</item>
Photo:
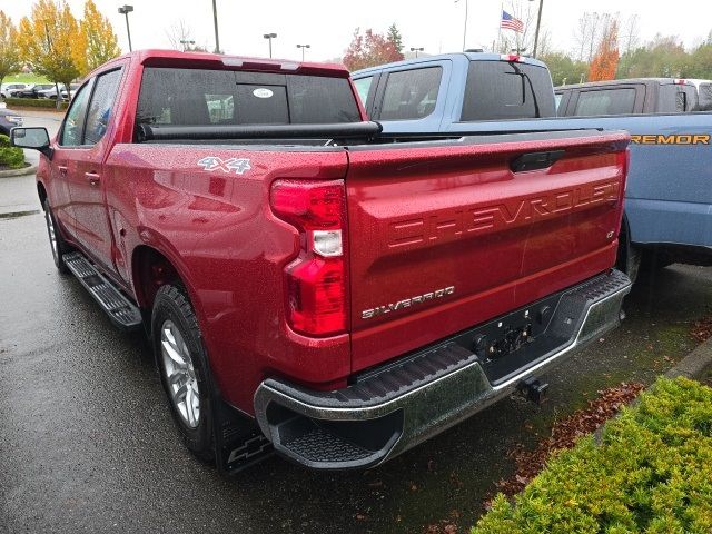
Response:
[{"label": "dark truck cab visible above the blue pickup's bed", "polygon": [[698,89],[688,80],[635,78],[592,81],[555,89],[560,117],[682,113],[698,110]]}]

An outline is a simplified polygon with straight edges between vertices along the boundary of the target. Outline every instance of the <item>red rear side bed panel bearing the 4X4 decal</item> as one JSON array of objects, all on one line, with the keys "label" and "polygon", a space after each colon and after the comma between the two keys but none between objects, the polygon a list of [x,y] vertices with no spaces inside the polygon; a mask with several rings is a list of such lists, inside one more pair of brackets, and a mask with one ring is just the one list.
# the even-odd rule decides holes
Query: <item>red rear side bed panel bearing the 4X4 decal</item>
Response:
[{"label": "red rear side bed panel bearing the 4X4 decal", "polygon": [[[243,175],[205,170],[198,161],[207,156],[246,158],[250,168]],[[171,261],[196,308],[218,385],[245,412],[251,413],[253,393],[267,375],[308,384],[349,373],[347,335],[308,339],[286,326],[283,268],[298,250],[298,234],[269,208],[275,179],[337,179],[345,172],[339,149],[119,144],[107,160],[120,276],[134,286],[138,247]]]}]

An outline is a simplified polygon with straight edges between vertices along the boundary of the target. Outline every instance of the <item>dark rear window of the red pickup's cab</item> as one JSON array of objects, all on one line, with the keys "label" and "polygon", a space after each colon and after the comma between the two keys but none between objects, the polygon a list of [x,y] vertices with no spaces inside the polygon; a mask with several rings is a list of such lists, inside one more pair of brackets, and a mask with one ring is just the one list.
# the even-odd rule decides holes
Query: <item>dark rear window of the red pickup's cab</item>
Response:
[{"label": "dark rear window of the red pickup's cab", "polygon": [[146,68],[137,123],[288,125],[357,122],[345,78]]}]

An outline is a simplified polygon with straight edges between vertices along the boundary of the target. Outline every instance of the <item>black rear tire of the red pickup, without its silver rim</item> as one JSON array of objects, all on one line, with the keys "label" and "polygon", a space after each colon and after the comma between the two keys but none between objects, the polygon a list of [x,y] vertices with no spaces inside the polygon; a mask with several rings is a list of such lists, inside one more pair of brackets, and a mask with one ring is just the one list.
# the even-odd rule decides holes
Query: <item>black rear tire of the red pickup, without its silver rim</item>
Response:
[{"label": "black rear tire of the red pickup, without its silver rim", "polygon": [[[197,398],[199,400],[199,414],[198,417],[195,418],[197,419],[197,426],[192,426],[190,422],[186,419],[186,412],[189,409],[188,397],[186,397],[185,406],[181,408],[175,399],[174,388],[176,384],[169,384],[170,369],[168,367],[171,363],[170,360],[166,363],[168,356],[165,356],[165,349],[162,348],[164,342],[166,340],[164,329],[169,323],[171,325],[169,328],[175,327],[182,337],[182,342],[185,342],[188,349],[188,359],[191,360],[191,376],[187,383],[191,384],[197,382]],[[171,332],[175,333],[175,330]],[[202,336],[192,306],[181,287],[166,285],[156,294],[151,314],[151,333],[154,355],[156,356],[160,380],[166,392],[170,412],[182,435],[186,447],[200,459],[212,462],[215,461],[212,384],[210,383],[210,374],[208,373],[207,352],[202,344]],[[182,386],[180,388],[182,388]],[[188,385],[187,389],[190,389],[190,385]],[[182,413],[181,409],[184,411]]]}]

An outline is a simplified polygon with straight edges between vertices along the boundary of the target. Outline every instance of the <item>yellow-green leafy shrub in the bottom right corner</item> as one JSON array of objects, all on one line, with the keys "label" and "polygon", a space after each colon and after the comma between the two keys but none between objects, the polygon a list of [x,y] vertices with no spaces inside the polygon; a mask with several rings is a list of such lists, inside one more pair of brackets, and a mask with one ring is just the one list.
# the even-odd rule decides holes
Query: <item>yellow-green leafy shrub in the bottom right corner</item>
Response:
[{"label": "yellow-green leafy shrub in the bottom right corner", "polygon": [[603,431],[561,452],[472,534],[712,532],[712,388],[659,379]]}]

